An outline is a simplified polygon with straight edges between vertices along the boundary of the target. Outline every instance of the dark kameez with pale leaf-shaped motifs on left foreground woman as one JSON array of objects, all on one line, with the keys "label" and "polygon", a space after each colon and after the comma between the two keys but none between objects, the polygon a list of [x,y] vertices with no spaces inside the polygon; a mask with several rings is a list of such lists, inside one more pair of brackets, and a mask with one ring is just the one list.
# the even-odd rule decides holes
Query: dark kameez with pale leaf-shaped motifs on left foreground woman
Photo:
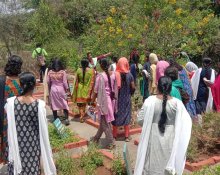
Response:
[{"label": "dark kameez with pale leaf-shaped motifs on left foreground woman", "polygon": [[[15,99],[15,122],[21,157],[22,175],[40,175],[40,136],[38,102],[22,104]],[[9,175],[14,175],[13,162],[8,164]]]}]

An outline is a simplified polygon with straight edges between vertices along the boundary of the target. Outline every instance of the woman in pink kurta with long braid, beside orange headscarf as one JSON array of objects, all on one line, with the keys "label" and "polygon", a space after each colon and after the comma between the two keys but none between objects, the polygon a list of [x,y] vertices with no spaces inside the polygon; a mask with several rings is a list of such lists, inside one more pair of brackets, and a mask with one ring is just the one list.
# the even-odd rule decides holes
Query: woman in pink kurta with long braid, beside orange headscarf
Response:
[{"label": "woman in pink kurta with long braid, beside orange headscarf", "polygon": [[108,148],[114,147],[114,139],[111,130],[111,122],[114,120],[114,112],[116,112],[117,99],[117,83],[115,73],[109,71],[109,63],[106,59],[100,61],[102,73],[96,78],[94,96],[92,101],[97,98],[97,108],[100,117],[99,129],[92,139],[98,142],[104,132],[108,140]]}]

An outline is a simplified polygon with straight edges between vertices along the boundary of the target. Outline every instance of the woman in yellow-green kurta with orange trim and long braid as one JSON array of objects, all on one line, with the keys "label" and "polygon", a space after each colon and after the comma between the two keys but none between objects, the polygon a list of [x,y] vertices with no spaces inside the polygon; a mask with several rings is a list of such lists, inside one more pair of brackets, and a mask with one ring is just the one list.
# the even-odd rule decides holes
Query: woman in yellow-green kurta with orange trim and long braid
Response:
[{"label": "woman in yellow-green kurta with orange trim and long braid", "polygon": [[88,59],[81,60],[81,68],[76,72],[76,83],[72,99],[79,108],[80,122],[84,122],[84,115],[87,103],[91,102],[91,94],[95,81],[95,70],[89,68]]}]

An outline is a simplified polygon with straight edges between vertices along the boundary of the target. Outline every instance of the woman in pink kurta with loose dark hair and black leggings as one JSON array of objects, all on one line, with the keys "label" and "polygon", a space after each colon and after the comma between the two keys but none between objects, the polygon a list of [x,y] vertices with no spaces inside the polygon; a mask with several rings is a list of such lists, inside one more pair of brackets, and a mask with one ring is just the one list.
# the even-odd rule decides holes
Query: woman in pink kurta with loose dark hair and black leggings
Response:
[{"label": "woman in pink kurta with loose dark hair and black leggings", "polygon": [[66,95],[68,91],[67,75],[59,59],[53,61],[52,69],[48,72],[47,83],[54,119],[56,120],[58,118],[57,111],[63,110],[65,116],[64,123],[65,125],[69,125],[69,106]]}]

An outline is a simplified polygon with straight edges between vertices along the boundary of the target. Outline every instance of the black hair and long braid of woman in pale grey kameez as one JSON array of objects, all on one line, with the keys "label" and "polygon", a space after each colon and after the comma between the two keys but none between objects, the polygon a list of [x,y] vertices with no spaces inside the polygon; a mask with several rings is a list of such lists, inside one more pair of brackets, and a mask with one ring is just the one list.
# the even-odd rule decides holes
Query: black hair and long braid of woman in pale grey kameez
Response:
[{"label": "black hair and long braid of woman in pale grey kameez", "polygon": [[158,123],[158,127],[161,133],[165,132],[165,126],[167,121],[166,105],[171,88],[172,88],[172,80],[169,77],[163,76],[159,79],[158,90],[160,93],[163,94],[162,113],[160,115],[161,117]]}]

